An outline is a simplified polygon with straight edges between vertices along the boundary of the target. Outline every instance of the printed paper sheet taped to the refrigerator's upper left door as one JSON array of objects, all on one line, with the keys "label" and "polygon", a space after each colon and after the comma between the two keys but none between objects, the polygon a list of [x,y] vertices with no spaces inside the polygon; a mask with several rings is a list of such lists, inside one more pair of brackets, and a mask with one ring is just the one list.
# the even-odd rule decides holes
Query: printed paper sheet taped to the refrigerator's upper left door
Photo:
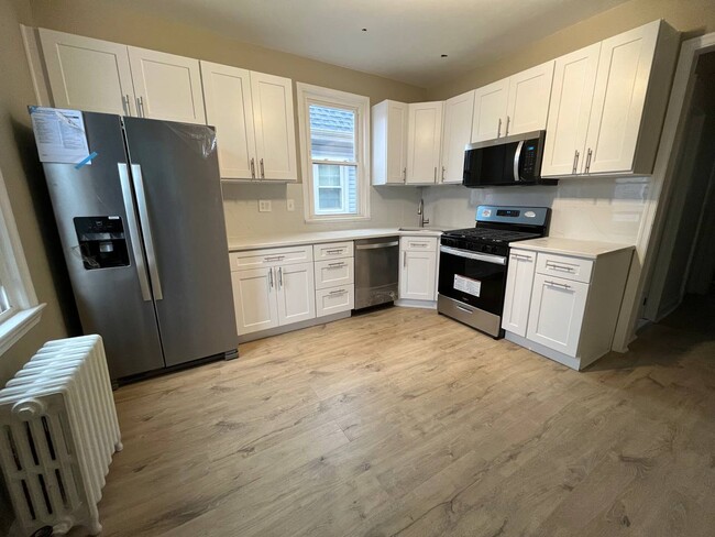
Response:
[{"label": "printed paper sheet taped to the refrigerator's upper left door", "polygon": [[31,107],[30,117],[41,162],[77,164],[89,156],[85,119],[79,110]]}]

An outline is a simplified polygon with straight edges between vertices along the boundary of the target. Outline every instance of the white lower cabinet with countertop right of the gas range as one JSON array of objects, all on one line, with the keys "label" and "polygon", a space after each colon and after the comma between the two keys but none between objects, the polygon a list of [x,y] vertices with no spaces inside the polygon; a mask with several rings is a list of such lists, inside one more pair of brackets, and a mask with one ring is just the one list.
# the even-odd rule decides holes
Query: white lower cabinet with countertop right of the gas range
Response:
[{"label": "white lower cabinet with countertop right of the gas range", "polygon": [[[520,244],[527,248],[509,253],[502,328],[509,341],[581,370],[610,350],[634,249],[531,242],[534,250]],[[565,253],[553,253],[549,243]]]}]

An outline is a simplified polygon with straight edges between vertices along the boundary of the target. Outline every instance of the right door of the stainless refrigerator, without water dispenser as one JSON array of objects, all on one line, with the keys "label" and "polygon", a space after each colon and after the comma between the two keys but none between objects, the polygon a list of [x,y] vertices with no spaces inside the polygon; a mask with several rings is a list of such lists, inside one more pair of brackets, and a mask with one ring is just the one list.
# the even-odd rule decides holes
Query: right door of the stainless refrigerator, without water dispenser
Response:
[{"label": "right door of the stainless refrigerator, without water dispenser", "polygon": [[166,364],[234,351],[213,129],[141,118],[124,129]]}]

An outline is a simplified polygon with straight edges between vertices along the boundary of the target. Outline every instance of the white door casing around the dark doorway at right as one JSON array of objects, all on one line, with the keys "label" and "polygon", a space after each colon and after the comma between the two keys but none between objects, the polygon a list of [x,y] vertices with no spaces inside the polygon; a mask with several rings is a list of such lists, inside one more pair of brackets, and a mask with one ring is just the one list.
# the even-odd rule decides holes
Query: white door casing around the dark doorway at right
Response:
[{"label": "white door casing around the dark doorway at right", "polygon": [[673,188],[673,169],[678,155],[673,150],[680,146],[683,134],[681,116],[685,108],[690,80],[701,54],[715,50],[715,32],[685,41],[680,51],[675,77],[668,102],[668,112],[658,146],[650,195],[641,220],[636,255],[641,265],[634,263],[628,276],[620,316],[616,325],[613,349],[625,352],[635,339],[635,328],[642,304],[646,284],[649,281],[657,259],[656,241],[660,240],[668,208],[668,199]]}]

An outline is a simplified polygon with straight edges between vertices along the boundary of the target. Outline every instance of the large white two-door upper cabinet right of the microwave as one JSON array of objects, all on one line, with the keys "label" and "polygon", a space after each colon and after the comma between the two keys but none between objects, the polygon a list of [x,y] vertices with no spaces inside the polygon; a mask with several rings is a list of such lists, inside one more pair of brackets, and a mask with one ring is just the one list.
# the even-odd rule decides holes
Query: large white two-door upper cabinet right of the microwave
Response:
[{"label": "large white two-door upper cabinet right of the microwave", "polygon": [[651,174],[679,46],[654,21],[558,58],[541,175]]}]

